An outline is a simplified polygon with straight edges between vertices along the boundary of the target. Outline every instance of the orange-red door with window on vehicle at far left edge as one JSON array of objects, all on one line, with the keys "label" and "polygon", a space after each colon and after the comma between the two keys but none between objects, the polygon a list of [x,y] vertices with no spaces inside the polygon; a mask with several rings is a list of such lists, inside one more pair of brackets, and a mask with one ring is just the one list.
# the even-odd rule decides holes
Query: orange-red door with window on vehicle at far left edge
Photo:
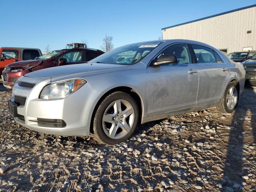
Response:
[{"label": "orange-red door with window on vehicle at far left edge", "polygon": [[20,61],[20,50],[18,49],[2,49],[3,58],[0,58],[0,73],[4,70],[4,67],[10,63]]}]

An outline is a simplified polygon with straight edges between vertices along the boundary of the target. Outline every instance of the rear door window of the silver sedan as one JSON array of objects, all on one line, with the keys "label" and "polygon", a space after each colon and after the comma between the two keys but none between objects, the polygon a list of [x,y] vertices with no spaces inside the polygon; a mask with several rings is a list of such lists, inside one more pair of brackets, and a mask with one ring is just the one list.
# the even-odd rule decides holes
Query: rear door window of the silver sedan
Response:
[{"label": "rear door window of the silver sedan", "polygon": [[216,63],[216,59],[210,48],[193,44],[191,46],[196,54],[198,63]]}]

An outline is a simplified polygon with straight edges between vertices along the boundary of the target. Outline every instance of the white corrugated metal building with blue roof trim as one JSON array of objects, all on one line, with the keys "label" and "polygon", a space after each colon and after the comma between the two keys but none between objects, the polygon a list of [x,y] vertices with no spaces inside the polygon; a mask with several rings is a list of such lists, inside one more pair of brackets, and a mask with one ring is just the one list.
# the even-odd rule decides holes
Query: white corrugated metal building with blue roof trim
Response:
[{"label": "white corrugated metal building with blue roof trim", "polygon": [[189,39],[219,50],[256,50],[256,4],[162,28],[163,39]]}]

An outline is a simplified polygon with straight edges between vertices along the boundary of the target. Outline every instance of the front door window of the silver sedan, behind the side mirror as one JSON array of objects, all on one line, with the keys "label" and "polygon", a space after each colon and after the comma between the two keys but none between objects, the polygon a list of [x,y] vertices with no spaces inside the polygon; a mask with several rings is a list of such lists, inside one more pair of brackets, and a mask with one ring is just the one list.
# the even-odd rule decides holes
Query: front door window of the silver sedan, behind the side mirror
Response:
[{"label": "front door window of the silver sedan, behind the side mirror", "polygon": [[175,44],[172,45],[168,48],[166,48],[159,56],[162,55],[173,55],[176,56],[178,62],[177,63],[172,63],[169,65],[175,65],[175,64],[189,64],[191,63],[191,56],[190,56],[190,52],[188,49],[188,45],[187,44]]}]

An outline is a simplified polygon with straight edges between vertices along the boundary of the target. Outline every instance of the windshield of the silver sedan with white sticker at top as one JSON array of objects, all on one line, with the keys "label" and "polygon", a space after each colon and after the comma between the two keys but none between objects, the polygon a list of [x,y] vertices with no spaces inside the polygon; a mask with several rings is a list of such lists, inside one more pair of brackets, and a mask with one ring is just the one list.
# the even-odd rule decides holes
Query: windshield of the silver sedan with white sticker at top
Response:
[{"label": "windshield of the silver sedan with white sticker at top", "polygon": [[142,60],[161,43],[162,42],[143,42],[125,45],[90,60],[90,63],[134,64]]}]

